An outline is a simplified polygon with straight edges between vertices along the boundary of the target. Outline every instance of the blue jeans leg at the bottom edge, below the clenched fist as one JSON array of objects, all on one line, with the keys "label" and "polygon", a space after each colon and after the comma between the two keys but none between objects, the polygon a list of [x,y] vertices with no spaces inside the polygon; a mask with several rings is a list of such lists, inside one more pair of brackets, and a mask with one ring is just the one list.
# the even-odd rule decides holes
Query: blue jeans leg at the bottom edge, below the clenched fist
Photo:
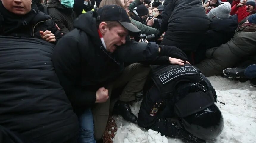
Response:
[{"label": "blue jeans leg at the bottom edge, below the clenched fist", "polygon": [[96,143],[91,109],[77,110],[76,113],[79,120],[78,143]]}]

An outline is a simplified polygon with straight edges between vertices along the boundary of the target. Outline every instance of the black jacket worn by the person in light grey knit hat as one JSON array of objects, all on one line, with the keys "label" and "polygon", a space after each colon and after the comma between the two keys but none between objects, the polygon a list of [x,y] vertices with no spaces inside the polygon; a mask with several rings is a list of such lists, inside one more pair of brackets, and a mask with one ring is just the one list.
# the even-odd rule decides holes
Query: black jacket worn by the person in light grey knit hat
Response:
[{"label": "black jacket worn by the person in light grey knit hat", "polygon": [[235,35],[238,26],[238,16],[232,15],[228,19],[210,22],[209,30],[205,33],[202,43],[195,52],[195,64],[206,58],[207,49],[227,43]]}]

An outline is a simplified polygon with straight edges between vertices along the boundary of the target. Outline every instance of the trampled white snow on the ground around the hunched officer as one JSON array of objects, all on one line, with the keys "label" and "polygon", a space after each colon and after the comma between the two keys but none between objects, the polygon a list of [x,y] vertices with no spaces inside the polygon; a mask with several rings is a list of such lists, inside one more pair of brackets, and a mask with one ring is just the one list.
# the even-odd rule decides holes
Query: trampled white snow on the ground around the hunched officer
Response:
[{"label": "trampled white snow on the ground around the hunched officer", "polygon": [[[224,118],[224,129],[220,136],[208,143],[256,143],[256,88],[250,82],[212,76],[208,78],[217,93],[217,106]],[[132,113],[138,116],[140,102],[132,106]],[[125,121],[120,115],[114,116],[118,130],[114,143],[182,143],[179,139],[161,136],[153,130],[145,130]]]}]

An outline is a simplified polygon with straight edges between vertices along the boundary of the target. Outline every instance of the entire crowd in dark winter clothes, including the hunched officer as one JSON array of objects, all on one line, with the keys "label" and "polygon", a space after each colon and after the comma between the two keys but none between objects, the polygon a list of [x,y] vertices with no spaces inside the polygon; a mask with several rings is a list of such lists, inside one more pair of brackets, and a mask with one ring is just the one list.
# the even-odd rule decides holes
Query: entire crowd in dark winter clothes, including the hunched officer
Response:
[{"label": "entire crowd in dark winter clothes, including the hunched officer", "polygon": [[224,126],[206,77],[256,86],[254,0],[0,0],[0,42],[1,143],[103,142],[113,114],[205,142]]}]

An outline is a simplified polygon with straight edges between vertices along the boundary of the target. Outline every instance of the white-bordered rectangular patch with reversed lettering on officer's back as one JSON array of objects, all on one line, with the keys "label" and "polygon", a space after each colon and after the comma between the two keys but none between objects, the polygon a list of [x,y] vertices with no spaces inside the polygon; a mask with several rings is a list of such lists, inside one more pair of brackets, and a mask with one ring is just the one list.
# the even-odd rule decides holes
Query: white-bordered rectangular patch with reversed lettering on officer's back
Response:
[{"label": "white-bordered rectangular patch with reversed lettering on officer's back", "polygon": [[190,75],[190,74],[198,74],[198,71],[193,66],[185,66],[180,67],[174,70],[170,70],[167,73],[164,73],[159,76],[160,80],[163,84],[171,81],[174,78],[177,78],[181,75]]}]

